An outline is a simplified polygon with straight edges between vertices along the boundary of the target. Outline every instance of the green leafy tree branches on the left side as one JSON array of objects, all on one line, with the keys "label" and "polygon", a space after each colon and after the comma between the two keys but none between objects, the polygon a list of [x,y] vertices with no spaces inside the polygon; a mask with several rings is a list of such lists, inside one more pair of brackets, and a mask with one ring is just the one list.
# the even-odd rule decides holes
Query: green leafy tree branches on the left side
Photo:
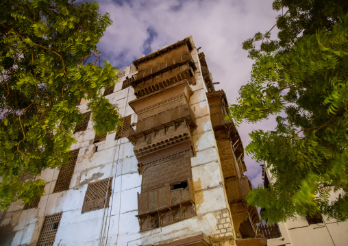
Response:
[{"label": "green leafy tree branches on the left side", "polygon": [[[42,195],[46,168],[69,160],[73,129],[89,101],[97,134],[116,129],[118,110],[101,95],[116,69],[100,66],[97,42],[112,21],[97,3],[1,1],[0,208]],[[87,64],[88,58],[96,58]],[[29,178],[33,177],[34,178]]]}]

